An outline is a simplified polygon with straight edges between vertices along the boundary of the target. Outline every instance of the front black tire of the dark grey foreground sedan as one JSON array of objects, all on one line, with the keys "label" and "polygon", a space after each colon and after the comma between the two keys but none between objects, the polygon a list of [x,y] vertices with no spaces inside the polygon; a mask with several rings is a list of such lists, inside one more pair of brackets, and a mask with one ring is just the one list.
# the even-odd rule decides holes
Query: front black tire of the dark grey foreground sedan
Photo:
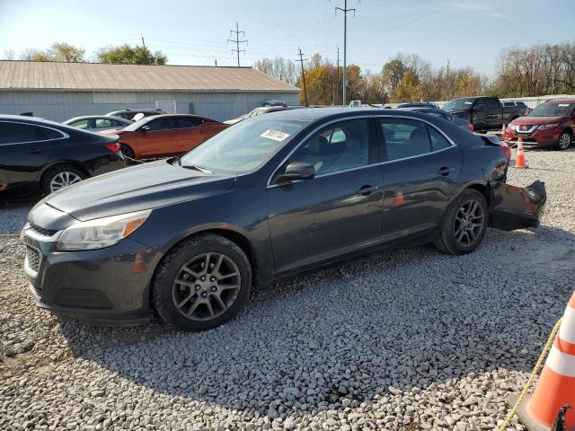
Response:
[{"label": "front black tire of the dark grey foreground sedan", "polygon": [[[205,281],[199,281],[200,277],[191,275],[191,269],[195,268],[193,265],[197,264],[193,263],[197,262],[195,259],[204,259],[208,253],[208,269],[205,276],[219,275],[222,261],[217,258],[224,256],[222,259],[225,259],[226,265],[234,267],[239,273],[239,279],[231,276],[233,278],[232,283],[237,284],[238,289],[230,288],[231,285],[224,284],[223,279],[210,282],[208,277]],[[215,256],[214,259],[216,260],[210,261],[212,255]],[[217,261],[220,262],[218,268],[216,268]],[[192,263],[190,264],[190,262]],[[190,278],[184,281],[183,277],[186,275]],[[230,279],[230,276],[221,277]],[[181,283],[186,283],[186,285],[182,286]],[[212,283],[217,285],[217,292],[210,291],[216,286],[204,286]],[[202,286],[198,289],[199,284]],[[210,330],[229,321],[241,310],[249,295],[250,286],[252,286],[252,268],[242,249],[234,242],[217,234],[200,233],[178,244],[159,264],[152,281],[152,306],[166,323],[180,330],[192,332]],[[222,287],[223,290],[220,291],[219,289]],[[223,300],[222,296],[225,294],[227,297]],[[204,295],[204,297],[200,295]],[[219,302],[216,296],[219,297]],[[188,298],[188,301],[179,308],[177,302],[183,303],[182,298],[183,300]],[[219,305],[226,300],[229,300],[229,304],[226,303],[227,308]],[[190,305],[189,308],[186,308],[188,305]],[[192,312],[191,317],[184,315],[186,312],[190,312],[192,307],[194,312]],[[200,312],[205,316],[202,316]],[[213,315],[216,312],[220,313],[214,317],[209,314],[212,313]]]}]

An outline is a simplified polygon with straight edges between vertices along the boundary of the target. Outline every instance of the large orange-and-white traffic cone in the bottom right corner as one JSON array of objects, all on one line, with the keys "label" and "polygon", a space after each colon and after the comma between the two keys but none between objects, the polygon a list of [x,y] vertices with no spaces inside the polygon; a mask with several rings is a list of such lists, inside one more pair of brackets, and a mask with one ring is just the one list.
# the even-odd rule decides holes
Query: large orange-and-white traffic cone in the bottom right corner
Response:
[{"label": "large orange-and-white traffic cone in the bottom right corner", "polygon": [[[565,309],[561,327],[547,356],[532,396],[526,396],[517,417],[528,431],[548,431],[562,407],[575,408],[575,292]],[[566,431],[575,430],[575,410],[564,414]]]}]

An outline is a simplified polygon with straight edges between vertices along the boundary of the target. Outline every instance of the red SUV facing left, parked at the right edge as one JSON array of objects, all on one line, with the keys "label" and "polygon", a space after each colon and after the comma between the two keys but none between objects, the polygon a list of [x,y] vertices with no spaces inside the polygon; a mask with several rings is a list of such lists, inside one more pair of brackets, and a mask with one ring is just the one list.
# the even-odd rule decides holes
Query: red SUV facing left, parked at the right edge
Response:
[{"label": "red SUV facing left, parked at the right edge", "polygon": [[526,117],[509,123],[503,137],[516,141],[523,138],[526,146],[569,148],[575,133],[575,99],[545,101]]}]

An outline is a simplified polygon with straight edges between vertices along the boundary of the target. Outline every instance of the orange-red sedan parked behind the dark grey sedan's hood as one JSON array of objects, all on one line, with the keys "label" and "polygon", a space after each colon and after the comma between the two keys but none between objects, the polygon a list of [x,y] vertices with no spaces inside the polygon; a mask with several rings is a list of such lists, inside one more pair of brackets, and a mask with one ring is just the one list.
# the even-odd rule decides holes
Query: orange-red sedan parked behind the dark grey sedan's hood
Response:
[{"label": "orange-red sedan parked behind the dark grey sedan's hood", "polygon": [[146,117],[121,130],[102,133],[118,135],[124,155],[151,159],[186,153],[227,127],[198,115],[166,114]]}]

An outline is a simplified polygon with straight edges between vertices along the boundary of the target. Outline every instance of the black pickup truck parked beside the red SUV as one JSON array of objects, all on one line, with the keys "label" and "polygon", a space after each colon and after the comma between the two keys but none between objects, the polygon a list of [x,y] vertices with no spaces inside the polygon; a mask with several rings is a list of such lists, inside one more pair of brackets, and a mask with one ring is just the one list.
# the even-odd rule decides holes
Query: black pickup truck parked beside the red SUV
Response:
[{"label": "black pickup truck parked beside the red SUV", "polygon": [[443,107],[452,115],[466,119],[473,130],[500,129],[503,124],[522,117],[525,106],[503,106],[497,97],[462,97],[448,101]]}]

